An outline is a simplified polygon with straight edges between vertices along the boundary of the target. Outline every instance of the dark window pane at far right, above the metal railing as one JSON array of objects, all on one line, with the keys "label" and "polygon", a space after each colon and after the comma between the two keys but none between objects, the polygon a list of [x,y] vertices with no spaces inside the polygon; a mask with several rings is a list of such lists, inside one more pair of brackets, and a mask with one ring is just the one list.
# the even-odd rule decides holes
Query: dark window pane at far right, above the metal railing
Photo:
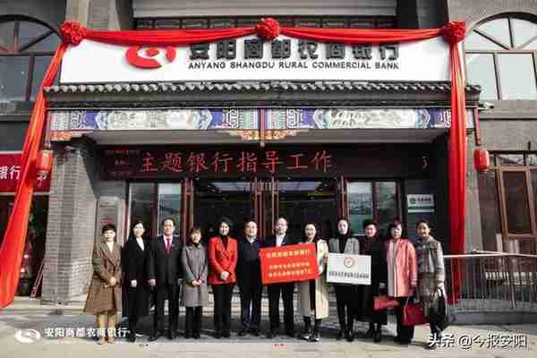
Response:
[{"label": "dark window pane at far right, above the metal railing", "polygon": [[509,234],[532,234],[525,172],[503,172],[503,190]]}]

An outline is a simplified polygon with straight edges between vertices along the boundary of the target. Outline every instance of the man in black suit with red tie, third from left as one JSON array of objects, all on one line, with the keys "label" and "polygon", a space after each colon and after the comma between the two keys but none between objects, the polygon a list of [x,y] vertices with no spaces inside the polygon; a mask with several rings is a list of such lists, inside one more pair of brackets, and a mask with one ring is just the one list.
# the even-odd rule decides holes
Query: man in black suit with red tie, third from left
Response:
[{"label": "man in black suit with red tie, third from left", "polygon": [[181,251],[183,244],[174,235],[175,220],[167,217],[162,221],[163,234],[154,239],[149,251],[149,286],[156,291],[153,334],[149,341],[155,341],[164,332],[164,303],[168,300],[167,337],[177,335],[179,320],[179,287],[181,280]]}]

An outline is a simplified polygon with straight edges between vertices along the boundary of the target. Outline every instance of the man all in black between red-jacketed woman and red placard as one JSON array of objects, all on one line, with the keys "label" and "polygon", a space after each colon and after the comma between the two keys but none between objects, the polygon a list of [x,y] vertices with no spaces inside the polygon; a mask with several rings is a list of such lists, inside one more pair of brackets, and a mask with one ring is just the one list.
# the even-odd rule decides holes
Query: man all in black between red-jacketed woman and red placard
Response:
[{"label": "man all in black between red-jacketed woman and red placard", "polygon": [[260,335],[261,320],[261,262],[260,241],[257,238],[257,224],[248,220],[244,224],[244,237],[238,244],[238,263],[235,270],[241,292],[241,322],[243,329],[239,336],[250,332],[253,336]]}]

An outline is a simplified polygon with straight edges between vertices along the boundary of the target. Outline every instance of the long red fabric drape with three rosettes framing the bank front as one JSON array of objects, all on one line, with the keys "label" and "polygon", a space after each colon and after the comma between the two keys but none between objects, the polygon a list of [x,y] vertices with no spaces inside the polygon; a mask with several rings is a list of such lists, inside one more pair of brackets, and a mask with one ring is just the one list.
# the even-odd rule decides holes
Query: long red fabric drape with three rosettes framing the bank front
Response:
[{"label": "long red fabric drape with three rosettes framing the bank front", "polygon": [[444,29],[431,30],[280,29],[277,21],[261,19],[257,27],[249,29],[98,31],[86,30],[74,22],[65,22],[61,31],[64,43],[58,47],[48,67],[30,118],[30,127],[22,152],[21,183],[17,189],[13,213],[4,234],[4,243],[0,248],[0,307],[13,302],[19,280],[21,255],[36,177],[35,161],[45,123],[46,100],[43,97],[42,87],[52,85],[67,44],[76,46],[84,38],[115,45],[165,47],[239,38],[255,33],[267,40],[276,38],[281,33],[294,38],[348,44],[417,41],[443,36],[451,44],[452,69],[452,124],[448,164],[451,251],[453,253],[463,251],[465,240],[465,86],[456,42],[464,37],[464,23],[450,22]]}]

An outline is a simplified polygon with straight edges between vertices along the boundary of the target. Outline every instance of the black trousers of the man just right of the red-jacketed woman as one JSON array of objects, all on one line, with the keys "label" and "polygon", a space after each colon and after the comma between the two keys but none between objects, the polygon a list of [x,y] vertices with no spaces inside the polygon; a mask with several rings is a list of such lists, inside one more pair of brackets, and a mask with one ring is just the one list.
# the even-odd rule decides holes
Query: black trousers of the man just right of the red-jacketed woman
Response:
[{"label": "black trousers of the man just right of the red-jacketed woman", "polygon": [[244,329],[259,329],[261,320],[261,277],[245,277],[239,282],[241,322]]}]

